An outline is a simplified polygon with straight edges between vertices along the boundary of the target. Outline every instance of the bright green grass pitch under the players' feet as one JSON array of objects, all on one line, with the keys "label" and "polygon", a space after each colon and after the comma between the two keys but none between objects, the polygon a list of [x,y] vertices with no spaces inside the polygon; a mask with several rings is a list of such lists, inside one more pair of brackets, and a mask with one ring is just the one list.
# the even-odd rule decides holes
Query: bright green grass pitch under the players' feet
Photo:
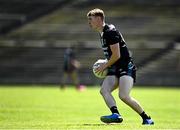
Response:
[{"label": "bright green grass pitch under the players' feet", "polygon": [[141,118],[113,95],[124,121],[107,125],[99,120],[110,114],[99,87],[76,91],[55,86],[0,86],[0,129],[60,130],[180,130],[180,89],[134,87],[136,98],[155,121],[141,125]]}]

